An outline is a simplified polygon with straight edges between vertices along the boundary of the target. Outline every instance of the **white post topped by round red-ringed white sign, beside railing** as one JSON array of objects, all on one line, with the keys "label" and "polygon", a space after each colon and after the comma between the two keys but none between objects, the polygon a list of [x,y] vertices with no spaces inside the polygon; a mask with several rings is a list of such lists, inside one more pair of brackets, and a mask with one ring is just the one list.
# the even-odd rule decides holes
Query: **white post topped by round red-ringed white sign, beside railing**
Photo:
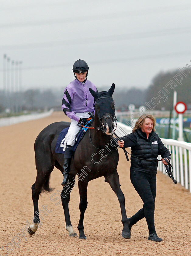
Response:
[{"label": "white post topped by round red-ringed white sign, beside railing", "polygon": [[178,140],[184,141],[183,139],[183,113],[186,111],[187,107],[186,104],[182,101],[179,101],[175,105],[175,111],[178,113],[179,116],[179,137]]}]

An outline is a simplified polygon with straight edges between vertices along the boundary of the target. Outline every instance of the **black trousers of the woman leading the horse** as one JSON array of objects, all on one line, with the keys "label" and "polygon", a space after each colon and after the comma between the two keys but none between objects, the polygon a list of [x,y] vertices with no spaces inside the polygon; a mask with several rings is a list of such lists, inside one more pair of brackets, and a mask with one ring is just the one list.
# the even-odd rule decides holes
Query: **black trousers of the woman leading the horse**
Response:
[{"label": "black trousers of the woman leading the horse", "polygon": [[130,224],[134,225],[137,221],[145,217],[149,233],[155,233],[156,175],[146,172],[130,171],[130,180],[144,203],[143,208],[130,218]]}]

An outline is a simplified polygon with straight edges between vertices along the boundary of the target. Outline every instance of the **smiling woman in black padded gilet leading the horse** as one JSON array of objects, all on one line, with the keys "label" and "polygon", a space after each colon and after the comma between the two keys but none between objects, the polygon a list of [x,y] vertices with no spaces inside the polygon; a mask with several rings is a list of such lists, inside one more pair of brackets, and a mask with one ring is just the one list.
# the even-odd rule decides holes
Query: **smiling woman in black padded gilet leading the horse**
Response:
[{"label": "smiling woman in black padded gilet leading the horse", "polygon": [[170,162],[171,154],[155,133],[155,118],[152,115],[142,115],[135,123],[133,132],[121,139],[122,142],[118,141],[121,148],[131,147],[130,180],[144,203],[143,208],[128,218],[129,230],[145,217],[149,229],[148,240],[161,242],[154,221],[158,162],[141,160],[132,155],[151,160],[157,160],[158,155],[161,155],[163,164],[168,165],[164,158]]}]

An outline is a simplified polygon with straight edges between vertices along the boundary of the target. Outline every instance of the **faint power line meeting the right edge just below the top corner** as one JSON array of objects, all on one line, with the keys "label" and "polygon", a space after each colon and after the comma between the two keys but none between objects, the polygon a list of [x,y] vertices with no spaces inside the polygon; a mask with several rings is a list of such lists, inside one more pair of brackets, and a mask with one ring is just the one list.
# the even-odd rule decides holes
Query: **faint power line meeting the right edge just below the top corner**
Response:
[{"label": "faint power line meeting the right edge just below the top corner", "polygon": [[99,15],[91,16],[80,16],[66,18],[66,19],[55,19],[55,20],[42,20],[42,21],[27,21],[22,23],[8,23],[0,24],[0,28],[10,28],[10,27],[29,27],[29,26],[42,26],[42,25],[54,25],[61,23],[75,23],[83,21],[93,21],[93,20],[108,20],[115,18],[131,17],[131,16],[141,16],[141,15],[150,15],[156,13],[165,13],[165,12],[174,12],[174,11],[183,11],[191,9],[191,5],[175,5],[175,6],[166,6],[155,9],[141,9],[141,10],[131,10],[126,12],[117,12],[117,13],[106,13]]}]

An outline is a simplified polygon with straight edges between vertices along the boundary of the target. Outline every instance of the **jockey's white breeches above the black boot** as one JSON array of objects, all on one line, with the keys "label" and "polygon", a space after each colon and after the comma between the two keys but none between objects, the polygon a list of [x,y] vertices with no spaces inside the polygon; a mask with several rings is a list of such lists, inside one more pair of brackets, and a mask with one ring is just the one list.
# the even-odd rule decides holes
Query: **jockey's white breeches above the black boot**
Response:
[{"label": "jockey's white breeches above the black boot", "polygon": [[[84,113],[75,113],[75,115],[79,118],[89,118],[90,115],[88,114],[88,112],[84,112]],[[78,134],[79,130],[81,129],[81,127],[78,126],[78,122],[76,122],[74,119],[71,119],[71,125],[68,129],[68,133],[67,133],[67,141],[66,144],[73,146],[76,140],[76,135]]]}]

